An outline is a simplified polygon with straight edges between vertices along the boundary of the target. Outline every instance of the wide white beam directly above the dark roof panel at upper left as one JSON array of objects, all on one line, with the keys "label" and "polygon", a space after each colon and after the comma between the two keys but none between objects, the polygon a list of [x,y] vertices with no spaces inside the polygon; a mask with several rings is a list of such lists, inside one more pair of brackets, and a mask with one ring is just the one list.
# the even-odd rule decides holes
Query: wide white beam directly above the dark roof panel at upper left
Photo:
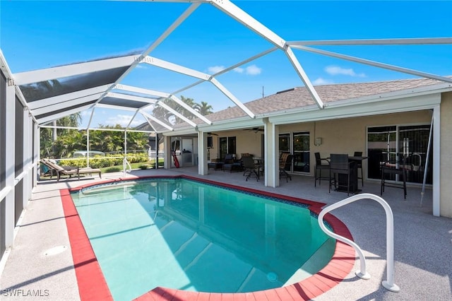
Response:
[{"label": "wide white beam directly above the dark roof panel at upper left", "polygon": [[133,61],[138,59],[138,55],[127,57],[117,57],[114,59],[100,59],[98,61],[88,61],[85,63],[71,64],[48,69],[20,72],[14,74],[16,85],[26,85],[28,83],[39,83],[57,78],[68,76],[78,76],[85,73],[115,69],[124,66],[130,66]]}]

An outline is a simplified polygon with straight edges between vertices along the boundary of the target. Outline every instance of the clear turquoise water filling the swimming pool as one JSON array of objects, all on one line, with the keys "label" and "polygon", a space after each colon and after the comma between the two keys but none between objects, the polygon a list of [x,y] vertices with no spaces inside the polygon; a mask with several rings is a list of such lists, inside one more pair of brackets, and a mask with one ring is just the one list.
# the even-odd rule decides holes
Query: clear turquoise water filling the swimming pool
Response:
[{"label": "clear turquoise water filling the swimming pool", "polygon": [[189,179],[71,194],[114,300],[157,286],[238,293],[301,281],[334,241],[304,206]]}]

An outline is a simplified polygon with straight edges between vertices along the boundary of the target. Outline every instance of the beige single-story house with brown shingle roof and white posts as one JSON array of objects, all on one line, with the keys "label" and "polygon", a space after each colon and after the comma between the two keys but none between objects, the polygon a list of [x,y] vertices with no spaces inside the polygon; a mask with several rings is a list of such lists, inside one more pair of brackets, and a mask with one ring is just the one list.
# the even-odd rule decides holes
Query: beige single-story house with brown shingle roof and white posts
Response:
[{"label": "beige single-story house with brown shingle roof and white posts", "polygon": [[[364,179],[379,181],[381,155],[405,150],[411,157],[409,184],[422,185],[427,169],[425,185],[433,190],[434,215],[452,218],[452,189],[446,184],[451,180],[451,83],[408,79],[319,85],[316,91],[326,104],[323,110],[307,89],[297,87],[247,102],[246,107],[256,114],[254,119],[238,107],[230,107],[209,114],[212,125],[195,120],[196,128],[174,126],[174,131],[162,133],[166,158],[171,158],[169,146],[174,146],[174,141],[191,137],[200,175],[208,174],[210,160],[225,153],[235,153],[237,158],[251,153],[263,158],[266,186],[278,187],[281,152],[294,155],[289,172],[313,176],[314,153],[324,158],[359,151],[368,157],[363,161]],[[207,146],[208,139],[213,140],[213,148]],[[165,164],[172,167],[171,160]]]}]

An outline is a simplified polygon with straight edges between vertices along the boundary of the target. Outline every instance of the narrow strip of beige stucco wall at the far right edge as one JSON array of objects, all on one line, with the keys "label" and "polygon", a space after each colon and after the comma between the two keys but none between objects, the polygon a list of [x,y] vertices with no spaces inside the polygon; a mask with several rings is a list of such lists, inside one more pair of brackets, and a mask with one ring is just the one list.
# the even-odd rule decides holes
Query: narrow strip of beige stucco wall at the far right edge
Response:
[{"label": "narrow strip of beige stucco wall at the far right edge", "polygon": [[452,93],[441,95],[440,215],[452,218]]}]

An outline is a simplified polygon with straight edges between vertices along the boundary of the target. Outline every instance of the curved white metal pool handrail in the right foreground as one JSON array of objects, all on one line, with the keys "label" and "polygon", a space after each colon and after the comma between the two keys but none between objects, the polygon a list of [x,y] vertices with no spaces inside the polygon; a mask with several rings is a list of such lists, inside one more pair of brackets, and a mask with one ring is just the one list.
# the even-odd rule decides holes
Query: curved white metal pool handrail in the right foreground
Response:
[{"label": "curved white metal pool handrail in the right foreground", "polygon": [[358,253],[360,263],[360,270],[356,271],[355,274],[359,278],[365,280],[370,279],[369,273],[366,272],[366,257],[362,253],[361,248],[355,244],[355,242],[331,232],[325,227],[325,225],[323,225],[323,216],[325,216],[326,213],[333,211],[336,208],[345,206],[347,203],[352,203],[360,199],[373,199],[374,201],[379,202],[386,212],[386,271],[388,279],[386,281],[382,281],[381,284],[383,285],[383,288],[386,288],[386,290],[397,293],[400,291],[400,288],[394,283],[394,217],[391,207],[385,200],[375,194],[357,194],[355,196],[350,196],[347,199],[343,199],[342,201],[338,201],[337,203],[333,203],[332,205],[323,208],[319,214],[319,226],[327,235],[335,238],[336,240],[340,240],[341,242],[345,242],[346,244],[350,244],[350,246],[355,249]]}]

